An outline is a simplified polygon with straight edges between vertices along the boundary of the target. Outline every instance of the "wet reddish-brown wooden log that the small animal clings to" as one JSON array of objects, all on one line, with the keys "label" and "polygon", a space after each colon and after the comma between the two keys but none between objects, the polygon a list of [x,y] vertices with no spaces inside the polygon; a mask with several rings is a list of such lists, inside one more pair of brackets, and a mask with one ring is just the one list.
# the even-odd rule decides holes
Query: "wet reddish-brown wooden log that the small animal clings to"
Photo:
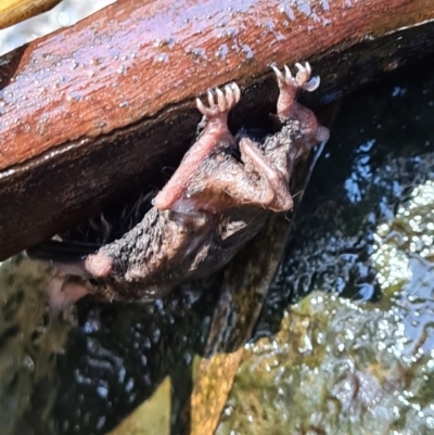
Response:
[{"label": "wet reddish-brown wooden log that the small animal clings to", "polygon": [[[433,17],[425,0],[120,0],[3,56],[0,259],[161,185],[206,89],[235,80],[245,91],[231,120],[252,124],[273,106],[269,65],[314,56],[326,101],[432,50],[432,25],[386,35]],[[362,74],[348,81],[354,65]]]}]

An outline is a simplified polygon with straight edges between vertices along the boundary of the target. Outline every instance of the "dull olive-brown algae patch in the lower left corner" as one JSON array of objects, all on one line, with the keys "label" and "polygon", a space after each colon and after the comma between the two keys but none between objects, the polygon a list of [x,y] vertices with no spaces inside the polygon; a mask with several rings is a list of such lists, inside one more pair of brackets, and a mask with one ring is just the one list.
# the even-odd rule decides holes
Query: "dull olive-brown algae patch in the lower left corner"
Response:
[{"label": "dull olive-brown algae patch in the lower left corner", "polygon": [[0,266],[0,425],[3,435],[51,434],[55,358],[73,319],[50,319],[49,271],[22,256]]}]

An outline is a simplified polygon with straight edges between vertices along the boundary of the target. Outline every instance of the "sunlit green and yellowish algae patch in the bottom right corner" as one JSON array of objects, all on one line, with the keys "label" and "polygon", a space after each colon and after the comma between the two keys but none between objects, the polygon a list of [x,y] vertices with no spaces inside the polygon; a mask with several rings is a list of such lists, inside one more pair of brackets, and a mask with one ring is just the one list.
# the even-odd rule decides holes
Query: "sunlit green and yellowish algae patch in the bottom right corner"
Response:
[{"label": "sunlit green and yellowish algae patch in the bottom right corner", "polygon": [[434,355],[407,351],[405,322],[311,293],[250,345],[217,434],[431,433]]}]

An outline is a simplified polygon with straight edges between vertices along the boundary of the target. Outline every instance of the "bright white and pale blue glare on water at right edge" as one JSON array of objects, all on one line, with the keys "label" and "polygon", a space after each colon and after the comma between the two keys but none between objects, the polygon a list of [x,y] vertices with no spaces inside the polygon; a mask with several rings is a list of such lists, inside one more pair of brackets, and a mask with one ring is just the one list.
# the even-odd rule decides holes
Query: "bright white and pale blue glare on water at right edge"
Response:
[{"label": "bright white and pale blue glare on water at right edge", "polygon": [[[379,226],[372,260],[407,336],[410,360],[434,349],[434,181],[416,187],[393,220]],[[396,309],[398,308],[398,309]]]}]

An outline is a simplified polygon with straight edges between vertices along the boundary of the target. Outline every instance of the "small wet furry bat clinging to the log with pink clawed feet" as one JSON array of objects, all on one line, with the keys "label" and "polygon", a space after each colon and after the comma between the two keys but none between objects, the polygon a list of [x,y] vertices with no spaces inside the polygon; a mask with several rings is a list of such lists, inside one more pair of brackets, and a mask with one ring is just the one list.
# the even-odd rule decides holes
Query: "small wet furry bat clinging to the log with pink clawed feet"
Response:
[{"label": "small wet furry bat clinging to the log with pink clawed feet", "polygon": [[[329,138],[315,114],[296,101],[298,89],[314,91],[319,78],[310,65],[296,64],[292,76],[272,67],[279,99],[277,132],[260,142],[228,128],[229,111],[240,88],[208,91],[196,100],[202,131],[180,166],[155,196],[143,219],[120,239],[78,260],[56,258],[36,246],[34,258],[60,270],[50,284],[50,304],[62,310],[86,294],[120,300],[151,300],[187,279],[205,277],[225,266],[264,225],[267,214],[293,206],[289,181],[295,159]],[[62,245],[66,242],[50,242]]]}]

